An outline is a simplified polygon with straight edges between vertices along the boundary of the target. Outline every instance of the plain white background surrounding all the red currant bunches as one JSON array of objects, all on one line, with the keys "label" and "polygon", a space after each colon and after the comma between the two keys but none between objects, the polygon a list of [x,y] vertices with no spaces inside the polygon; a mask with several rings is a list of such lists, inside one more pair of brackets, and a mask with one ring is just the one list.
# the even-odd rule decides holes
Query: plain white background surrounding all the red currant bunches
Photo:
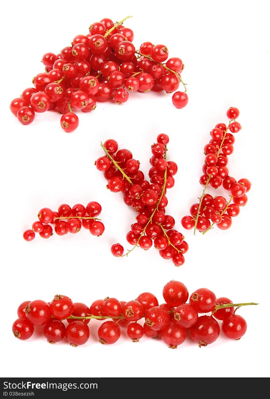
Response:
[{"label": "plain white background surrounding all the red currant bunches", "polygon": [[[1,51],[1,372],[6,377],[266,377],[268,374],[269,305],[269,30],[265,1],[144,2],[130,7],[103,1],[95,6],[58,2],[7,2],[2,13]],[[56,112],[36,115],[22,126],[9,111],[10,101],[31,87],[43,71],[43,53],[58,53],[90,23],[133,15],[125,26],[143,41],[163,43],[169,56],[182,58],[188,83],[188,106],[173,107],[171,95],[134,93],[125,105],[98,103],[94,112],[80,113],[78,129],[67,134]],[[267,73],[266,73],[267,72]],[[203,146],[218,122],[227,123],[230,106],[240,109],[243,128],[235,134],[230,174],[252,182],[248,203],[229,231],[214,229],[202,236],[184,231],[190,250],[176,268],[154,248],[136,249],[124,259],[112,257],[110,246],[130,245],[125,234],[135,213],[120,194],[106,190],[94,160],[102,156],[100,140],[115,138],[129,148],[147,174],[150,146],[158,133],[170,135],[168,159],[178,164],[174,188],[168,192],[168,213],[188,214],[200,196],[198,183]],[[216,194],[209,189],[211,194]],[[223,193],[227,194],[228,193]],[[222,190],[221,190],[222,195]],[[106,230],[93,237],[86,230],[49,240],[22,238],[41,207],[57,210],[61,203],[102,204]],[[240,341],[219,339],[199,349],[189,339],[177,350],[161,340],[129,342],[125,332],[112,346],[98,343],[98,322],[90,323],[84,346],[49,345],[37,331],[28,341],[14,339],[12,322],[24,300],[49,301],[57,293],[74,302],[116,296],[131,300],[150,291],[162,300],[171,279],[189,292],[208,287],[234,302],[259,302],[239,310],[248,324]]]}]

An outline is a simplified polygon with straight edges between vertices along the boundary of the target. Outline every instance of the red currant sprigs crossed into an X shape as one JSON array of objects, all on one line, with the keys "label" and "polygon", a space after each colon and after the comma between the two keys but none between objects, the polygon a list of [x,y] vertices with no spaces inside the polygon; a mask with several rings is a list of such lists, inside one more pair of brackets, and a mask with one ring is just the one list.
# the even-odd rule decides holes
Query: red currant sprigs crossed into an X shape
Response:
[{"label": "red currant sprigs crossed into an X shape", "polygon": [[[152,158],[149,170],[150,182],[140,168],[140,162],[133,158],[131,151],[118,150],[115,140],[109,139],[101,144],[106,156],[98,158],[96,168],[104,172],[108,180],[107,188],[124,194],[123,201],[137,212],[136,223],[131,225],[127,233],[127,242],[142,249],[149,249],[153,243],[163,259],[172,259],[174,265],[183,265],[184,253],[188,251],[188,244],[179,231],[173,229],[175,220],[166,215],[168,204],[166,190],[174,186],[174,175],[177,164],[167,161],[167,134],[159,134],[157,143],[151,147]],[[128,255],[133,249],[129,250]],[[111,252],[116,257],[122,257],[124,249],[119,243],[112,245]]]}]

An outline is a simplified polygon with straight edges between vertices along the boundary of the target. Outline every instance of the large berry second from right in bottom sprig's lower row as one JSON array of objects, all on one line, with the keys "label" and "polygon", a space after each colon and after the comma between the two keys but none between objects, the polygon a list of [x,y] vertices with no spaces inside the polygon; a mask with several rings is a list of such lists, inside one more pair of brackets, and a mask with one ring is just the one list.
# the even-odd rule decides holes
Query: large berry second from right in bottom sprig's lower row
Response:
[{"label": "large berry second from right in bottom sprig's lower row", "polygon": [[190,328],[191,338],[199,347],[212,344],[219,337],[219,324],[211,316],[200,316],[197,323]]}]

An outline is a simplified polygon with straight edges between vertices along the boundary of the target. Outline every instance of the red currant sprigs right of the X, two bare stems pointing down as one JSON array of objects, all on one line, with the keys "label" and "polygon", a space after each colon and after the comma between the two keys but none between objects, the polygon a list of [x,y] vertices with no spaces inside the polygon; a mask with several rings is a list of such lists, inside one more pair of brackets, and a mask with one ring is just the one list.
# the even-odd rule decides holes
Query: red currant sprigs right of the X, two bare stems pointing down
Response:
[{"label": "red currant sprigs right of the X, two bare stems pointing down", "polygon": [[[187,229],[194,228],[205,234],[216,224],[221,230],[231,227],[232,217],[239,215],[240,207],[246,205],[246,193],[251,188],[249,180],[243,178],[236,181],[229,176],[228,155],[233,153],[235,137],[233,133],[241,130],[241,124],[235,119],[239,117],[239,110],[231,107],[227,111],[229,118],[228,126],[225,123],[218,123],[210,132],[211,140],[204,146],[205,161],[203,164],[203,175],[200,177],[200,184],[204,186],[200,203],[194,203],[190,207],[190,215],[184,216],[181,220],[182,226]],[[230,133],[228,132],[230,130]],[[223,196],[211,196],[205,190],[210,184],[217,189],[221,186],[231,193],[227,200]]]}]

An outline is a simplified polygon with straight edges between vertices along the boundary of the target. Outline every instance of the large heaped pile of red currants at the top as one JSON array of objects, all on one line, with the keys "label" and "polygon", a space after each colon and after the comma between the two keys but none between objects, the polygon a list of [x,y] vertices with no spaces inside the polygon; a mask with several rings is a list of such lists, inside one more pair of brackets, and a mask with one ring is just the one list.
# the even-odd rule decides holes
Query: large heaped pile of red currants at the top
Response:
[{"label": "large heaped pile of red currants at the top", "polygon": [[[38,73],[33,78],[34,87],[23,90],[21,97],[10,104],[18,120],[29,124],[35,113],[56,109],[63,114],[63,130],[72,132],[79,123],[73,109],[93,111],[96,101],[125,103],[133,91],[175,92],[183,83],[182,60],[168,59],[165,45],[149,41],[136,50],[133,31],[123,26],[127,18],[116,24],[103,18],[90,25],[88,34],[75,36],[72,45],[59,54],[44,54],[45,72]],[[172,96],[177,108],[188,103],[185,85],[184,88],[184,92]]]}]

